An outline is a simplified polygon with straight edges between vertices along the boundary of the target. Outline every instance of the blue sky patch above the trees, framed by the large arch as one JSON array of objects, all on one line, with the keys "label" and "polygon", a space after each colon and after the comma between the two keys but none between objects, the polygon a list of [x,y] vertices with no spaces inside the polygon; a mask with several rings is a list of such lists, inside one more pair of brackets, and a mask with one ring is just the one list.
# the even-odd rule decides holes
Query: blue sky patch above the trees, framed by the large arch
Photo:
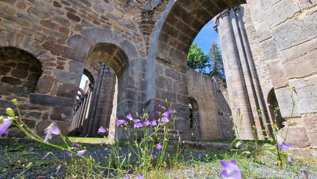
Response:
[{"label": "blue sky patch above the trees, framed by the large arch", "polygon": [[201,47],[205,54],[208,54],[209,47],[211,46],[212,40],[218,44],[220,49],[218,34],[214,30],[214,23],[210,20],[197,34],[193,42],[197,42],[197,46]]}]

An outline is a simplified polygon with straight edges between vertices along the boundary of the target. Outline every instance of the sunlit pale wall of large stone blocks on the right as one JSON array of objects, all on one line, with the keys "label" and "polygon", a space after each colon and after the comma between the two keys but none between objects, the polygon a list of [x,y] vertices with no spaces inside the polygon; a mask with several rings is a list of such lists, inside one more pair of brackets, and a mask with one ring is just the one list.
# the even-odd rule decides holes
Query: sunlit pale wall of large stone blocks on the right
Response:
[{"label": "sunlit pale wall of large stone blocks on the right", "polygon": [[317,146],[317,1],[247,2],[242,5],[244,30],[265,102],[269,106],[269,92],[274,89],[287,125],[292,109],[290,86],[295,86],[298,100],[287,141],[297,147]]}]

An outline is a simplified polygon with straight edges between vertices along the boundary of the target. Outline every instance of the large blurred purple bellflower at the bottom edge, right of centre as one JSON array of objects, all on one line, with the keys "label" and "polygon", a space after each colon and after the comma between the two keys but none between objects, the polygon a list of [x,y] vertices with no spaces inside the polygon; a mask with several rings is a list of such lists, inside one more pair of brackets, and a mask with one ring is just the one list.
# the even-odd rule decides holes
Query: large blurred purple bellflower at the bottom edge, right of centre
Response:
[{"label": "large blurred purple bellflower at the bottom edge, right of centre", "polygon": [[242,179],[242,172],[240,167],[236,164],[235,160],[220,161],[223,170],[220,172],[220,177],[223,179]]}]

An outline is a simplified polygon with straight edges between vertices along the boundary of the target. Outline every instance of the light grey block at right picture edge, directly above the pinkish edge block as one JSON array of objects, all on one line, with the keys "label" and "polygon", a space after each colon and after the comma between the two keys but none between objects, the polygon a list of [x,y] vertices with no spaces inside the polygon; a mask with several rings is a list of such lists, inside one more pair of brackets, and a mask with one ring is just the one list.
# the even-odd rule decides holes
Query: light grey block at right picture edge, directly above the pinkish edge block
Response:
[{"label": "light grey block at right picture edge, directly above the pinkish edge block", "polygon": [[317,75],[313,75],[307,79],[294,79],[289,82],[290,86],[295,86],[297,91],[297,99],[295,101],[298,112],[300,114],[305,113],[317,113],[317,95],[316,84]]}]

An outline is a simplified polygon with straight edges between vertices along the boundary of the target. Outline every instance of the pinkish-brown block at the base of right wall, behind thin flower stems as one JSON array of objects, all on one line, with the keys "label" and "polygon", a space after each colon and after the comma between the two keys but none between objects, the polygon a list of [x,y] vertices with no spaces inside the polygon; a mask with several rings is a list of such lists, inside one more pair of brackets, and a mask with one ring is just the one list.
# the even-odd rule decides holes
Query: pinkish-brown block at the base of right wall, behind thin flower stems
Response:
[{"label": "pinkish-brown block at the base of right wall, behind thin flower stems", "polygon": [[[284,127],[281,131],[280,134],[285,137],[287,128]],[[289,136],[296,136],[296,137],[289,137]],[[281,138],[281,136],[277,137],[277,141],[279,143],[282,143],[284,139]],[[306,129],[305,127],[289,127],[287,138],[285,143],[291,143],[292,147],[299,147],[299,148],[304,148],[310,146],[309,139],[306,134]]]}]

